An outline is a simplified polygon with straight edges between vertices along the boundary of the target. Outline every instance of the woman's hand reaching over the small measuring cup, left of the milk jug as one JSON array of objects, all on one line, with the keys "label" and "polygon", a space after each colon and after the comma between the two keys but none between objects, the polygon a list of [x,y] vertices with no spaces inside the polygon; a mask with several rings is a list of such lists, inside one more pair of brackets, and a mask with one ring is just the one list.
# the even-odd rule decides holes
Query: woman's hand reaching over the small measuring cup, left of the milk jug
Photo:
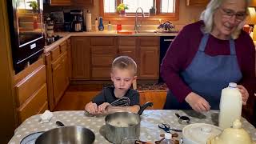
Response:
[{"label": "woman's hand reaching over the small measuring cup, left of the milk jug", "polygon": [[205,98],[202,98],[200,95],[191,92],[185,98],[185,101],[190,104],[193,110],[197,112],[203,112],[210,110],[209,102]]}]

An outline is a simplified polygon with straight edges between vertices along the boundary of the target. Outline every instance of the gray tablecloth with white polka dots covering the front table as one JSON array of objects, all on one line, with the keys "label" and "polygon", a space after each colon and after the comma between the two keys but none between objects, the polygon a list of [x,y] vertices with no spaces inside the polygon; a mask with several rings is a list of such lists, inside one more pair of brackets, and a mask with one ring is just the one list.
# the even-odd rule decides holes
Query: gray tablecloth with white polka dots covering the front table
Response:
[{"label": "gray tablecloth with white polka dots covering the front table", "polygon": [[[144,110],[141,118],[141,133],[140,140],[147,142],[154,142],[159,140],[160,134],[164,134],[163,130],[158,128],[159,123],[169,123],[174,129],[180,129],[185,125],[178,123],[178,118],[175,113],[180,115],[187,115],[191,119],[191,123],[208,123],[216,125],[218,123],[218,111],[210,110],[204,114],[196,114],[192,110]],[[25,138],[26,135],[32,134],[38,131],[46,131],[58,127],[55,122],[61,121],[66,126],[84,126],[92,130],[96,136],[94,141],[97,143],[110,143],[104,138],[102,127],[105,125],[105,117],[96,118],[85,116],[84,111],[56,111],[53,112],[54,117],[50,122],[40,123],[40,114],[27,118],[25,122],[14,132],[13,138],[10,139],[10,144],[18,144]],[[256,130],[246,119],[242,118],[243,128],[250,134],[251,138],[256,141]],[[179,138],[182,137],[182,133],[178,133]]]}]

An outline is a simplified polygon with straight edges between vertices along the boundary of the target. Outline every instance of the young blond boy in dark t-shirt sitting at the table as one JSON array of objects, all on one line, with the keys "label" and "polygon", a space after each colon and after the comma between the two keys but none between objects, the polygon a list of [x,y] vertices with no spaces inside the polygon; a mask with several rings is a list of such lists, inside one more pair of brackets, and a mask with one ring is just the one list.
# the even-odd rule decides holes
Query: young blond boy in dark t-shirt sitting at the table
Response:
[{"label": "young blond boy in dark t-shirt sitting at the table", "polygon": [[[90,114],[106,113],[106,107],[110,106],[118,98],[126,99],[127,106],[118,106],[121,110],[137,113],[140,109],[138,91],[130,89],[136,80],[137,65],[128,56],[120,56],[112,62],[110,77],[114,87],[106,87],[100,94],[87,103],[85,110]],[[127,101],[128,99],[128,101]],[[122,101],[123,102],[123,101]]]}]

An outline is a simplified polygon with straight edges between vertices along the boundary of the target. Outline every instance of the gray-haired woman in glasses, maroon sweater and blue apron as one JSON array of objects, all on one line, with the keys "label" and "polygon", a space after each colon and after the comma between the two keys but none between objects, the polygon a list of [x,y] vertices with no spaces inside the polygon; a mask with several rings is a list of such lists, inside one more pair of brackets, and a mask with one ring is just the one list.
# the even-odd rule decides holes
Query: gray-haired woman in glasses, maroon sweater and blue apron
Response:
[{"label": "gray-haired woman in glasses, maroon sweater and blue apron", "polygon": [[238,83],[246,105],[255,86],[254,42],[242,30],[248,3],[211,0],[201,21],[180,31],[162,61],[162,78],[170,89],[164,109],[218,110],[229,82]]}]

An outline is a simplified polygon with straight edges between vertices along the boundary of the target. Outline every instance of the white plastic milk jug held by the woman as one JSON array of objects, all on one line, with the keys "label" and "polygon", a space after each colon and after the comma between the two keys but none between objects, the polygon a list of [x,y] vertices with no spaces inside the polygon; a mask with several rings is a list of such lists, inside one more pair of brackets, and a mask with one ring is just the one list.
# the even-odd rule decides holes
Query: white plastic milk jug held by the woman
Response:
[{"label": "white plastic milk jug held by the woman", "polygon": [[240,120],[242,113],[242,94],[239,92],[236,83],[230,82],[228,87],[222,89],[219,109],[218,126],[222,129],[232,126],[235,119]]}]

